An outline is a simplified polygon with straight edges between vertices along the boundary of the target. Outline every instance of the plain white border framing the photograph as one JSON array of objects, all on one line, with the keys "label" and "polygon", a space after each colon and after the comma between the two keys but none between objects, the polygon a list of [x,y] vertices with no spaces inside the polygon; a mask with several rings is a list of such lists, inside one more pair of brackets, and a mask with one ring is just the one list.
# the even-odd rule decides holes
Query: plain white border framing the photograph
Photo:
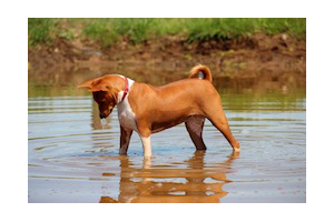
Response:
[{"label": "plain white border framing the photograph", "polygon": [[[308,1],[310,2],[310,1]],[[303,221],[333,218],[333,19],[330,1],[2,2],[2,218],[16,221]],[[307,204],[28,204],[27,18],[307,17]],[[4,50],[3,50],[4,49]],[[4,69],[3,69],[4,68]],[[4,123],[4,124],[3,124]]]}]

